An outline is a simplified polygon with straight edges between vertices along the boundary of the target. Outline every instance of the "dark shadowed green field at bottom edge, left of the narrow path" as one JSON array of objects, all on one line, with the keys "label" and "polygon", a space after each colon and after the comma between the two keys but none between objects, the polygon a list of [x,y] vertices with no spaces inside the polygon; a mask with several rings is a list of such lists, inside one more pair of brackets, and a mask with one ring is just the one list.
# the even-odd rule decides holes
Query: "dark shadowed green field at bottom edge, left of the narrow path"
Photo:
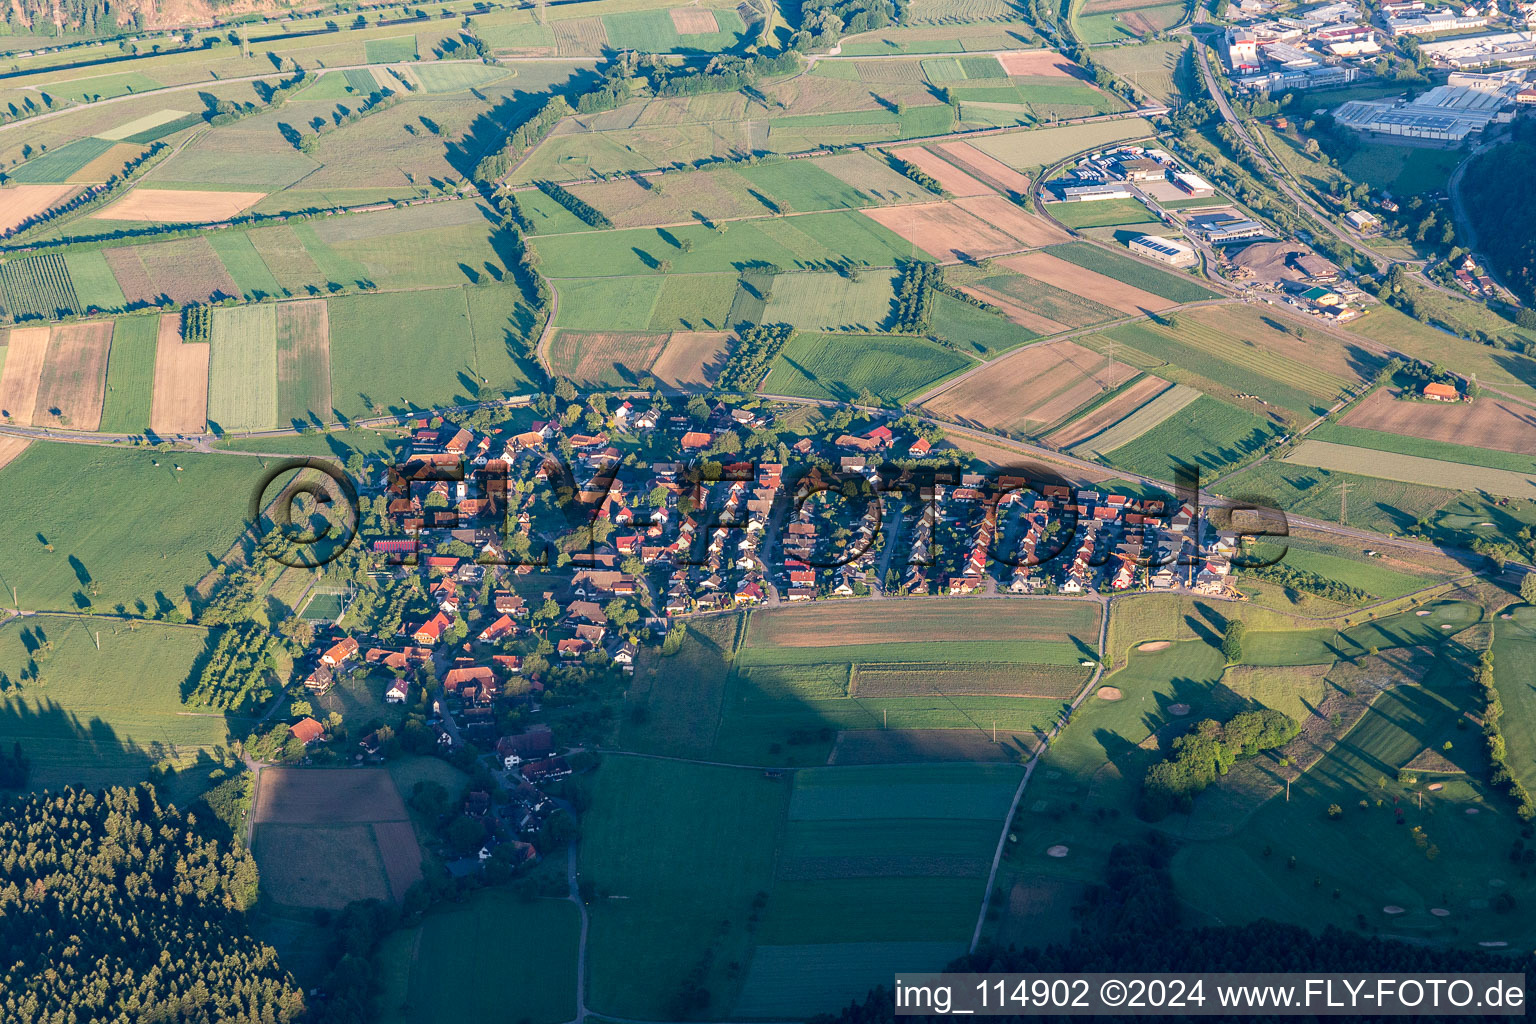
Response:
[{"label": "dark shadowed green field at bottom edge, left of the narrow path", "polygon": [[[564,872],[559,855],[558,870]],[[548,869],[542,869],[548,870]],[[490,1019],[559,1024],[576,1013],[576,904],[485,889],[386,940],[381,1003],[390,1024]],[[522,936],[508,941],[510,936]],[[396,976],[404,975],[404,976]]]}]

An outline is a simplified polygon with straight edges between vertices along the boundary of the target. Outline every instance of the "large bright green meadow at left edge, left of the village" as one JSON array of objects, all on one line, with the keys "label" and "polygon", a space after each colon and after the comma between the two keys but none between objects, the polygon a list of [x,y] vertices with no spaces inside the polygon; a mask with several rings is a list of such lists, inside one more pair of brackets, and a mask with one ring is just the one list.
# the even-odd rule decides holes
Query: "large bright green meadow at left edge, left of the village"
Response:
[{"label": "large bright green meadow at left edge, left of the village", "polygon": [[[0,591],[15,586],[23,608],[152,613],[184,603],[183,591],[244,530],[258,473],[255,461],[233,456],[34,441],[0,470]],[[111,516],[78,500],[81,482],[111,500]],[[144,528],[157,522],[177,528]]]}]

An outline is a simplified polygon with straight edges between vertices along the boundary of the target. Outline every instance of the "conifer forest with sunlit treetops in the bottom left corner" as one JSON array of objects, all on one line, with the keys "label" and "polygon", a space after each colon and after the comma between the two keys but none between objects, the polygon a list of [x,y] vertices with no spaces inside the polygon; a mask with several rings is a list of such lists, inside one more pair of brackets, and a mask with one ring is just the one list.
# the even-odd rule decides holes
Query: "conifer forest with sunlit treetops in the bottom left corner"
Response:
[{"label": "conifer forest with sunlit treetops in the bottom left corner", "polygon": [[246,930],[255,898],[252,855],[149,786],[12,798],[0,804],[0,1019],[293,1021],[303,993]]}]

